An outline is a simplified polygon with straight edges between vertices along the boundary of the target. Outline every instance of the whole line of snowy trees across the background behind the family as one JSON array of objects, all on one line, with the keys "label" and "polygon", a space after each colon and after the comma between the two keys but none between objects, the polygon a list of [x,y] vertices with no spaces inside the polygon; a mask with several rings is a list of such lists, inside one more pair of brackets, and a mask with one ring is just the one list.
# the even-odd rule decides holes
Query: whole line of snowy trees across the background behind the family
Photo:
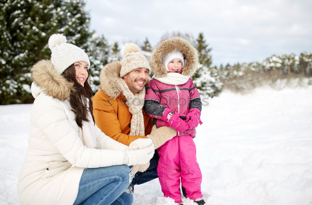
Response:
[{"label": "whole line of snowy trees across the background behind the family", "polygon": [[[99,89],[99,75],[105,64],[121,60],[121,46],[103,35],[90,31],[90,16],[84,10],[84,0],[7,0],[0,2],[0,104],[32,103],[30,68],[37,61],[49,59],[47,42],[54,33],[63,33],[68,43],[78,45],[90,57],[90,81],[93,92]],[[272,56],[262,63],[212,66],[209,44],[203,33],[166,33],[159,41],[171,36],[190,40],[199,52],[198,71],[192,77],[202,96],[218,95],[229,82],[243,76],[271,70],[283,73],[303,73],[311,76],[311,53]],[[146,38],[142,53],[150,58],[152,46]]]}]

